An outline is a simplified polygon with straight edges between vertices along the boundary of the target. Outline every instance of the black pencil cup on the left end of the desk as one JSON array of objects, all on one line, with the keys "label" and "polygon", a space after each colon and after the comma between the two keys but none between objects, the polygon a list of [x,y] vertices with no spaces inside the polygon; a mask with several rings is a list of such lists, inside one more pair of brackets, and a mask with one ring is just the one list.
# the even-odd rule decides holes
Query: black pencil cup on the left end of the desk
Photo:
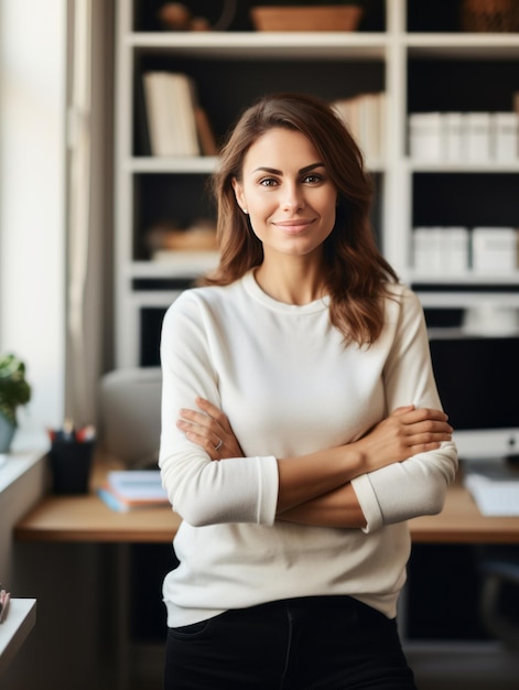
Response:
[{"label": "black pencil cup on the left end of the desk", "polygon": [[55,494],[87,494],[94,441],[53,441],[48,457]]}]

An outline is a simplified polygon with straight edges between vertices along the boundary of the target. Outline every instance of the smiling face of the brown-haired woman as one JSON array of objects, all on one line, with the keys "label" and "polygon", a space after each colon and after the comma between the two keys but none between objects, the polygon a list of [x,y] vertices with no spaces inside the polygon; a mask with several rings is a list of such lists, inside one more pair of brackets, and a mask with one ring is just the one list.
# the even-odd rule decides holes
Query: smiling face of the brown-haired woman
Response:
[{"label": "smiling face of the brown-haired woman", "polygon": [[275,128],[261,136],[234,180],[236,200],[273,255],[321,256],[335,224],[337,188],[313,143],[301,132]]}]

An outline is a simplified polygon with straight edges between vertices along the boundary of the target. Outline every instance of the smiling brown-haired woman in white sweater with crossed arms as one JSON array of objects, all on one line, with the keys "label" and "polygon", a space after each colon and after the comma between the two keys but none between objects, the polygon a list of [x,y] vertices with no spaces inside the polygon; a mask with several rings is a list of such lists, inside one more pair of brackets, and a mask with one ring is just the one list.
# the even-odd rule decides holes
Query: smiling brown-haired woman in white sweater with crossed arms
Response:
[{"label": "smiling brown-haired woman in white sweater with crossed arms", "polygon": [[164,687],[414,688],[406,520],[441,510],[456,451],[361,153],[326,104],[271,95],[214,182],[220,263],[161,344],[160,466],[183,518]]}]

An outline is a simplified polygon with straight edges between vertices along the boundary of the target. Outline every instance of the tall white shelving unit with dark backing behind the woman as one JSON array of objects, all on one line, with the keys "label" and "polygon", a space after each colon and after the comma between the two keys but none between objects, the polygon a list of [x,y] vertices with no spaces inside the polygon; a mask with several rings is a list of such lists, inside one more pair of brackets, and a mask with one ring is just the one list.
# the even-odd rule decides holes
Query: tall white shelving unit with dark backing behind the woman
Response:
[{"label": "tall white shelving unit with dark backing behind the woman", "polygon": [[[413,96],[413,83],[410,82],[410,67],[417,61],[425,66],[440,68],[445,63],[446,69],[453,65],[465,65],[471,72],[471,64],[475,69],[482,63],[495,65],[499,71],[502,64],[516,63],[519,67],[519,35],[518,34],[467,34],[461,31],[413,32],[407,26],[407,4],[417,0],[381,0],[380,7],[385,12],[385,30],[358,31],[354,33],[260,33],[252,31],[229,31],[220,33],[173,33],[166,31],[140,31],[133,23],[139,14],[136,8],[142,10],[143,0],[117,0],[117,62],[116,62],[116,364],[118,367],[136,366],[139,364],[139,310],[145,304],[156,308],[166,308],[179,292],[179,281],[186,280],[206,270],[212,259],[201,255],[199,266],[190,257],[187,261],[180,257],[177,261],[156,263],[144,256],[139,241],[145,225],[147,196],[158,194],[163,196],[174,194],[179,185],[182,191],[190,183],[201,184],[215,169],[216,159],[209,157],[188,159],[159,159],[147,155],[138,150],[136,134],[136,95],[134,87],[142,77],[142,71],[149,65],[160,65],[163,68],[179,68],[190,72],[195,78],[204,82],[204,67],[215,71],[215,79],[220,78],[223,69],[227,71],[227,90],[221,91],[220,99],[201,84],[203,103],[209,119],[215,122],[218,118],[231,120],[229,114],[221,110],[221,101],[228,101],[242,85],[241,72],[244,64],[264,66],[263,72],[275,65],[285,75],[296,77],[301,61],[305,68],[314,67],[309,77],[315,79],[315,93],[326,97],[327,94],[340,97],[340,75],[349,88],[363,93],[363,79],[368,74],[370,83],[366,89],[372,90],[374,79],[386,91],[386,155],[383,160],[368,160],[368,168],[374,172],[377,182],[376,230],[381,241],[381,248],[387,259],[393,265],[400,277],[411,283],[420,285],[437,285],[439,290],[428,290],[423,299],[428,305],[443,308],[459,302],[459,292],[464,285],[469,287],[472,302],[476,299],[485,300],[489,288],[498,287],[499,292],[508,302],[519,309],[519,276],[473,276],[469,272],[448,278],[437,276],[417,274],[412,267],[412,228],[414,225],[425,225],[417,219],[425,216],[428,208],[414,208],[417,180],[444,179],[450,175],[457,179],[468,175],[489,176],[519,183],[519,159],[511,162],[420,162],[408,154],[408,115],[409,96]],[[432,0],[420,0],[423,4],[432,4]],[[144,3],[145,4],[145,3]],[[360,28],[361,29],[361,28]],[[412,28],[410,28],[412,29]],[[326,65],[332,72],[332,85],[322,87],[320,65]],[[259,68],[259,67],[258,67]],[[238,75],[234,80],[233,75]],[[352,75],[358,73],[358,77]],[[507,72],[509,74],[510,71]],[[519,69],[516,69],[519,73]],[[255,73],[256,74],[256,73]],[[497,72],[496,72],[497,74]],[[201,76],[202,75],[202,76]],[[374,76],[375,75],[375,76]],[[377,76],[379,75],[379,76]],[[381,75],[381,76],[380,76]],[[280,82],[273,78],[273,88]],[[504,77],[505,79],[507,77]],[[238,79],[238,80],[237,80]],[[352,87],[350,82],[355,84]],[[253,77],[251,78],[253,82]],[[512,78],[513,82],[513,78]],[[266,87],[268,82],[258,84],[258,89]],[[206,85],[207,86],[207,85]],[[247,85],[250,90],[250,85]],[[505,84],[510,95],[519,90],[519,79]],[[324,94],[322,93],[324,89]],[[253,90],[253,89],[252,89]],[[295,90],[295,89],[294,89]],[[455,89],[457,90],[457,89]],[[332,93],[333,91],[333,93]],[[484,109],[485,89],[482,88],[480,108]],[[259,91],[258,94],[259,95]],[[446,109],[456,109],[453,94],[453,106]],[[448,100],[448,96],[447,96]],[[250,98],[247,99],[250,103]],[[456,106],[457,107],[457,106]],[[491,109],[491,104],[488,109]],[[467,107],[468,109],[468,107]],[[235,116],[237,112],[235,114]],[[233,118],[234,119],[234,118]],[[224,132],[218,131],[221,134]],[[496,177],[494,177],[497,175]],[[469,181],[462,184],[469,186]],[[446,185],[448,186],[448,185]],[[181,192],[179,192],[180,194]],[[489,190],[493,194],[493,190]],[[477,201],[477,200],[476,200]],[[445,200],[433,198],[434,207],[442,206]],[[445,208],[448,204],[444,204]],[[462,204],[463,205],[463,204]],[[507,201],[509,205],[507,220],[519,226],[519,195]],[[468,204],[467,204],[468,206]],[[437,213],[437,212],[436,212]],[[501,214],[502,215],[502,214]],[[444,225],[455,225],[445,212]],[[457,223],[459,224],[459,223]],[[467,214],[468,225],[478,225]],[[502,225],[496,218],[490,225]],[[437,223],[434,223],[437,225]],[[164,281],[155,289],[143,289],[145,281]],[[167,287],[167,282],[176,283]],[[450,290],[450,288],[453,288]],[[480,290],[478,291],[478,289]],[[420,292],[419,292],[420,293]],[[420,293],[421,294],[421,293]],[[422,297],[422,294],[421,294]],[[490,295],[495,300],[495,294]]]}]

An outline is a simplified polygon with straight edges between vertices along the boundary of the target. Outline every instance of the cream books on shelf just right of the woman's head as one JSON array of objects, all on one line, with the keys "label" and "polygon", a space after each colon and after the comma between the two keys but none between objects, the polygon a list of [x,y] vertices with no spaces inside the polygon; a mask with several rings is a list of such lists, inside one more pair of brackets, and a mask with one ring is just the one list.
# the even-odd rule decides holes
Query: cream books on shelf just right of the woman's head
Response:
[{"label": "cream books on shelf just right of the woman's head", "polygon": [[386,152],[386,94],[359,94],[334,100],[333,108],[344,120],[368,160],[382,159]]}]

